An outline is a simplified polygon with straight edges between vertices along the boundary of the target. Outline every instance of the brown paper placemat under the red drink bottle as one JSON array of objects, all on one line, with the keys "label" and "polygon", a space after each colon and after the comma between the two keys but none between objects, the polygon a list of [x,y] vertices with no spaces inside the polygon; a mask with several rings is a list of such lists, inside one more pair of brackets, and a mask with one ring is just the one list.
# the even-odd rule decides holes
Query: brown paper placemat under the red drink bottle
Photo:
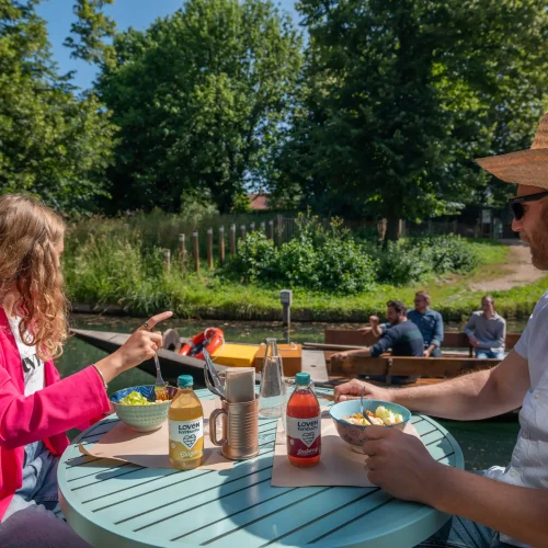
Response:
[{"label": "brown paper placemat under the red drink bottle", "polygon": [[[408,422],[403,432],[421,438],[415,427]],[[321,414],[321,457],[310,468],[293,466],[287,457],[287,445],[282,421],[278,421],[274,466],[273,487],[376,487],[367,478],[367,456],[352,450],[336,433],[333,420],[322,408]]]}]

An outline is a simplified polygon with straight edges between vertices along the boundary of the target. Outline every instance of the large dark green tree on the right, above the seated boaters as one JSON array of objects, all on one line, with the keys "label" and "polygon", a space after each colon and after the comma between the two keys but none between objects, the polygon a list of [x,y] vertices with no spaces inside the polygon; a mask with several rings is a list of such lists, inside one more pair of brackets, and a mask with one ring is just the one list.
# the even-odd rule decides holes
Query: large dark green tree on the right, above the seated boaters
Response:
[{"label": "large dark green tree on the right, above the seated boaters", "polygon": [[538,0],[301,0],[310,33],[278,195],[327,214],[442,215],[493,187],[473,158],[530,139],[548,16]]}]

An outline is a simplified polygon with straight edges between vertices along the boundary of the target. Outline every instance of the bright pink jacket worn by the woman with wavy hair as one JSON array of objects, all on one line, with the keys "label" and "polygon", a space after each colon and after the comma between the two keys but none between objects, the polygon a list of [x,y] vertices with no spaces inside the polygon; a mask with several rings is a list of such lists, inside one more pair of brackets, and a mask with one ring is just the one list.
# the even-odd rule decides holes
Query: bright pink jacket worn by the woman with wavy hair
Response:
[{"label": "bright pink jacket worn by the woman with wavy hair", "polygon": [[65,432],[107,413],[109,398],[94,367],[60,380],[53,362],[44,364],[44,388],[24,396],[15,339],[0,307],[0,520],[22,486],[24,446],[43,441],[55,455],[68,445]]}]

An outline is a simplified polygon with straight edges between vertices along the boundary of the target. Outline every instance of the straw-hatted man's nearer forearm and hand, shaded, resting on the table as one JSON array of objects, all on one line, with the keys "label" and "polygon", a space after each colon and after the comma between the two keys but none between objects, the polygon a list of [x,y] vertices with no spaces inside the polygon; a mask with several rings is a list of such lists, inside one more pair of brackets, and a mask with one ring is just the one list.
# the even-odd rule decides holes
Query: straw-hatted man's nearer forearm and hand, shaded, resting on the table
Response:
[{"label": "straw-hatted man's nearer forearm and hand, shaded, resting on the table", "polygon": [[483,478],[435,461],[414,436],[368,426],[369,480],[403,500],[467,517],[530,546],[547,546],[548,489]]}]

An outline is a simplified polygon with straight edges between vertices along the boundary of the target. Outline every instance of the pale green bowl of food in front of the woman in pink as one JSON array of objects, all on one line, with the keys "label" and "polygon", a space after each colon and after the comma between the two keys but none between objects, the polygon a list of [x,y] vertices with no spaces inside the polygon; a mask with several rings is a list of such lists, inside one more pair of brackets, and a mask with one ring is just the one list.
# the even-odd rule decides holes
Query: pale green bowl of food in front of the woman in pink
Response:
[{"label": "pale green bowl of food in front of the woman in pink", "polygon": [[136,432],[158,430],[168,419],[176,388],[168,387],[169,399],[156,401],[153,385],[123,388],[111,396],[118,419]]}]

